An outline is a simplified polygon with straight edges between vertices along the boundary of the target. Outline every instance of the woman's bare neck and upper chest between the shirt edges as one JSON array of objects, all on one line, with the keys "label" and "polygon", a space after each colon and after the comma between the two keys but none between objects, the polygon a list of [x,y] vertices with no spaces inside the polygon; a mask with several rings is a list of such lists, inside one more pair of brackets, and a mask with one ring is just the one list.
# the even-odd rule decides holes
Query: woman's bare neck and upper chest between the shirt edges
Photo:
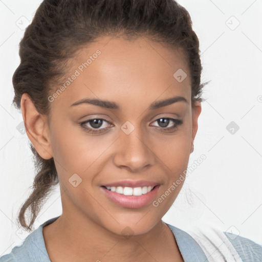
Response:
[{"label": "woman's bare neck and upper chest between the shirt edges", "polygon": [[[72,214],[72,212],[71,212]],[[176,240],[161,220],[140,235],[118,235],[93,221],[65,216],[43,227],[50,260],[73,261],[161,261],[163,254],[181,259]],[[168,261],[168,260],[166,260]],[[183,261],[183,260],[176,260]]]}]

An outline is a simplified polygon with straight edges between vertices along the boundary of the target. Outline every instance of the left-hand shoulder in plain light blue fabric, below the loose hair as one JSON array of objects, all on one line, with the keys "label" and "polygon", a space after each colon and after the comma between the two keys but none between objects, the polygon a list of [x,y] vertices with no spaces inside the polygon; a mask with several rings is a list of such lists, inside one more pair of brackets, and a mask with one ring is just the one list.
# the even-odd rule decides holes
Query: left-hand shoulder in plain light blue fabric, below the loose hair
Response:
[{"label": "left-hand shoulder in plain light blue fabric, below the loose hair", "polygon": [[9,254],[1,256],[0,262],[50,262],[42,235],[42,228],[54,222],[57,218],[58,217],[54,217],[41,224],[37,229],[31,232],[24,241],[15,246]]}]

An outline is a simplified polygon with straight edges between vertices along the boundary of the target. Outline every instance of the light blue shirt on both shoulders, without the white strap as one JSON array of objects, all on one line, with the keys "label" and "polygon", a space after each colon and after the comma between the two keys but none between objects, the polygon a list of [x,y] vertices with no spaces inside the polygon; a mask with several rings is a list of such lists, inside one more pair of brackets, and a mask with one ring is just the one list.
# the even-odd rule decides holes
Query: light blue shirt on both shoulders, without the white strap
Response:
[{"label": "light blue shirt on both shoulders, without the white strap", "polygon": [[[0,262],[51,262],[43,239],[42,228],[53,223],[58,217],[53,217],[40,225],[25,238],[20,246],[14,247],[9,254],[0,257]],[[208,262],[204,251],[193,237],[177,227],[166,225],[172,230],[185,262]],[[227,236],[243,262],[262,262],[261,245],[242,236],[232,234],[234,237],[229,237],[229,233],[223,233]]]}]

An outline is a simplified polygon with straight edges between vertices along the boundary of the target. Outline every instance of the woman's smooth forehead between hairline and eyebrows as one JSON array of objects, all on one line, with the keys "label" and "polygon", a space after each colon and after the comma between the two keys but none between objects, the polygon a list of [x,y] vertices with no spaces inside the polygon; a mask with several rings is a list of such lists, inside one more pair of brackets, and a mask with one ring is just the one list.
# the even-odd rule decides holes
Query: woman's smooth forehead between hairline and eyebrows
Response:
[{"label": "woman's smooth forehead between hairline and eyebrows", "polygon": [[[184,96],[188,101],[191,97],[189,70],[182,50],[167,48],[145,37],[99,37],[79,49],[69,64],[68,80],[54,90],[64,86],[55,99],[62,106],[90,97],[129,104],[139,99],[151,103],[173,95]],[[176,72],[187,77],[180,82]]]}]

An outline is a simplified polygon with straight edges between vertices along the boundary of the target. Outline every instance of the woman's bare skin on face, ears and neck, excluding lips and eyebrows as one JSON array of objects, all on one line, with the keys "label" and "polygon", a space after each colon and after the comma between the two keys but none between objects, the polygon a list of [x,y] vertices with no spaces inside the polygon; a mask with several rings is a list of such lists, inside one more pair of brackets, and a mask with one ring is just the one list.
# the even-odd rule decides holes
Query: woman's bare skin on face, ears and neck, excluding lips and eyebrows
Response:
[{"label": "woman's bare skin on face, ears and neck, excluding lips and eyebrows", "polygon": [[[145,37],[100,37],[70,60],[69,76],[98,49],[101,55],[51,102],[49,119],[37,113],[27,94],[21,98],[27,135],[43,159],[54,158],[60,180],[62,214],[43,228],[49,257],[52,262],[183,261],[173,233],[162,221],[183,182],[158,207],[151,202],[142,208],[115,204],[100,186],[119,180],[157,181],[157,200],[187,169],[201,113],[200,102],[191,106],[187,62],[181,50]],[[180,68],[187,74],[182,82],[173,77]],[[174,96],[188,102],[148,109],[156,100]],[[114,101],[120,109],[70,106],[83,98]],[[101,117],[108,122],[98,129],[108,129],[100,134],[79,125]],[[167,127],[157,120],[168,117],[183,123],[165,132]],[[126,121],[135,127],[129,135],[121,130]],[[168,127],[174,125],[169,121]],[[85,126],[95,129],[94,123]],[[82,179],[76,187],[69,182],[74,173]],[[133,232],[129,238],[121,233],[127,226]]]}]

